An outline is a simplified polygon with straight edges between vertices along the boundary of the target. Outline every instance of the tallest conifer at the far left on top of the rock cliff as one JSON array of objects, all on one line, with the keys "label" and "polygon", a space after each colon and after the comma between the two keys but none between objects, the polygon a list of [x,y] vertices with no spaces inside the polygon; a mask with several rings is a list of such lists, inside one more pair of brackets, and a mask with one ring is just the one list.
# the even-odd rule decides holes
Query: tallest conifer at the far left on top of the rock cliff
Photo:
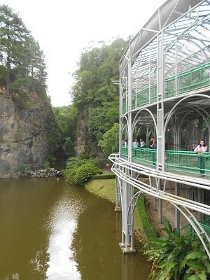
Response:
[{"label": "tallest conifer at the far left on top of the rock cliff", "polygon": [[0,56],[1,66],[6,74],[4,78],[6,78],[7,95],[10,93],[10,81],[17,78],[17,75],[27,75],[30,59],[27,56],[29,38],[29,31],[18,15],[8,6],[0,6]]}]

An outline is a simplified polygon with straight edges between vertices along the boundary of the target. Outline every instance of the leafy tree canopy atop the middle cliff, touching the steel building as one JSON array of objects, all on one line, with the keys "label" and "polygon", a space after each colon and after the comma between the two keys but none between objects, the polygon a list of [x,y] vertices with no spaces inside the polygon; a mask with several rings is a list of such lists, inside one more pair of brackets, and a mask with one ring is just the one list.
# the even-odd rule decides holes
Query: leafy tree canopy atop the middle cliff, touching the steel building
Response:
[{"label": "leafy tree canopy atop the middle cliff, touching the steel building", "polygon": [[111,45],[86,50],[73,75],[73,104],[78,112],[87,111],[87,131],[92,141],[102,140],[103,134],[118,123],[119,88],[113,80],[119,79],[119,61],[126,46],[127,41],[117,38]]}]

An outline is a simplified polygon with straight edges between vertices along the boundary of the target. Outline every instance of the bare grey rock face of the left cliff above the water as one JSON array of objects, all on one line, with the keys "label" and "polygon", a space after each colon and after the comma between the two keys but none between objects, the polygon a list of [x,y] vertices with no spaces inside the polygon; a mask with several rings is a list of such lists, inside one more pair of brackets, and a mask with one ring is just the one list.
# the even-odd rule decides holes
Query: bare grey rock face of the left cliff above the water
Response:
[{"label": "bare grey rock face of the left cliff above the water", "polygon": [[[48,105],[49,110],[50,106]],[[48,155],[49,113],[46,106],[18,107],[0,96],[0,177],[6,178],[24,166],[41,169]],[[52,118],[52,116],[51,116]]]}]

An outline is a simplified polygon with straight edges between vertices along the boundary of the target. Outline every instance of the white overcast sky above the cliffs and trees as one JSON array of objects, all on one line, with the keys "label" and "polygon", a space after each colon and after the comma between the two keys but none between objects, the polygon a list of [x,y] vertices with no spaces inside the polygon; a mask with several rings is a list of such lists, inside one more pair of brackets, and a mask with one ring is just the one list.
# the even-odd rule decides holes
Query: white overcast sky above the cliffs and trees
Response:
[{"label": "white overcast sky above the cliffs and trees", "polygon": [[19,13],[45,53],[52,106],[71,103],[71,74],[90,41],[135,35],[165,0],[0,0]]}]

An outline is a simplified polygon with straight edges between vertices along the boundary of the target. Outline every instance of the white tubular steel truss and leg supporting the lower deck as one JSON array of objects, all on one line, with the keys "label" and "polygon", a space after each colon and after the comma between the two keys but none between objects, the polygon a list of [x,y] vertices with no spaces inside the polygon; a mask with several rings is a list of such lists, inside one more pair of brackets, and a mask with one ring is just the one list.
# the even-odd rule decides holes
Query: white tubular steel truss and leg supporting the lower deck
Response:
[{"label": "white tubular steel truss and leg supporting the lower deck", "polygon": [[[160,200],[170,202],[181,212],[181,214],[183,214],[183,216],[185,216],[188,223],[190,223],[197,236],[202,241],[202,244],[207,251],[207,255],[209,255],[210,258],[210,252],[206,245],[206,241],[210,243],[209,236],[200,225],[200,222],[197,221],[197,218],[195,218],[192,212],[190,212],[190,210],[194,210],[210,216],[210,206],[194,200],[189,200],[185,197],[180,197],[179,195],[167,193],[165,190],[165,183],[168,180],[183,184],[187,181],[188,186],[209,190],[209,180],[202,180],[201,183],[200,180],[196,179],[187,180],[184,176],[179,176],[179,178],[177,178],[178,176],[174,176],[173,174],[162,174],[144,166],[128,163],[126,160],[118,158],[118,154],[110,155],[109,160],[113,162],[111,170],[116,174],[117,180],[120,182],[118,190],[120,194],[120,205],[124,206],[121,208],[123,215],[123,230],[122,243],[120,243],[120,246],[123,248],[123,253],[134,252],[134,208],[137,204],[139,195],[141,195],[141,193],[146,193]],[[148,176],[149,184],[139,181],[138,176],[140,174]],[[152,179],[155,179],[156,181],[155,186],[152,183]],[[164,187],[162,190],[160,189],[160,180],[164,181]],[[125,188],[124,191],[123,188]],[[134,188],[138,190],[135,194]],[[130,193],[130,197],[128,197],[127,192]],[[119,205],[118,202],[116,203]]]}]

